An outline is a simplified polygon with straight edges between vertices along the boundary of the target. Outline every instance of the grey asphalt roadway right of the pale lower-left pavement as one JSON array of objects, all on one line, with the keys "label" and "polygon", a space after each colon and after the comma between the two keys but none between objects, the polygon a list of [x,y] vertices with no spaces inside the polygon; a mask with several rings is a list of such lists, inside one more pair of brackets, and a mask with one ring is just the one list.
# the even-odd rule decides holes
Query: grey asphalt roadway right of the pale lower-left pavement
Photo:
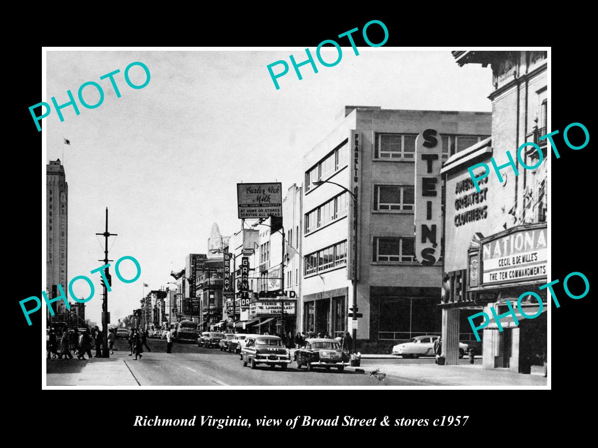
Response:
[{"label": "grey asphalt roadway right of the pale lower-left pavement", "polygon": [[[173,343],[172,354],[166,353],[164,340],[149,339],[151,352],[145,351],[143,357],[135,360],[135,355],[128,356],[129,345],[118,340],[117,352],[111,357],[124,360],[135,380],[142,386],[408,386],[425,385],[424,381],[411,381],[404,378],[386,377],[383,382],[370,378],[367,373],[355,373],[345,370],[338,373],[332,369],[307,372],[303,367],[297,369],[292,363],[283,372],[280,367],[271,370],[269,366],[258,366],[252,370],[243,367],[239,354],[221,352],[217,348],[198,347],[197,344]],[[384,360],[372,360],[380,364]],[[388,360],[399,363],[402,360]],[[387,361],[387,362],[388,362]],[[434,360],[405,360],[434,363]],[[362,367],[367,372],[367,362],[362,360]]]}]

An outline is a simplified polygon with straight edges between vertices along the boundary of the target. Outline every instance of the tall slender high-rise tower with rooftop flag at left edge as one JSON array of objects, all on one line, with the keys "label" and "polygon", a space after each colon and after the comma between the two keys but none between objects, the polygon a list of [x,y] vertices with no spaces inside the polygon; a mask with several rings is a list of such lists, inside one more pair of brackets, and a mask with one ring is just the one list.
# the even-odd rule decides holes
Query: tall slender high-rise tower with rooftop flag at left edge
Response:
[{"label": "tall slender high-rise tower with rooftop flag at left edge", "polygon": [[[59,295],[57,285],[61,285],[68,295],[68,195],[65,168],[60,159],[51,160],[46,165],[46,293],[54,298]],[[47,309],[48,322],[71,320],[62,300],[54,302],[54,317]],[[81,322],[85,320],[83,303],[71,303],[71,313],[77,314]]]}]

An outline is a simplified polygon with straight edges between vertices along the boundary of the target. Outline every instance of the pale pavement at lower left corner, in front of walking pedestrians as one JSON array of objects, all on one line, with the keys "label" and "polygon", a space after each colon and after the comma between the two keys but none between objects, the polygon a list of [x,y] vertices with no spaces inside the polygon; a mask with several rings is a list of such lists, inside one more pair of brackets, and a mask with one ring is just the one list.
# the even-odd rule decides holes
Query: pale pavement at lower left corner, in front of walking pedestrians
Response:
[{"label": "pale pavement at lower left corner, in front of walking pedestrians", "polygon": [[126,354],[115,352],[109,358],[92,358],[80,361],[46,360],[48,386],[125,386],[136,387],[129,367],[124,363]]}]

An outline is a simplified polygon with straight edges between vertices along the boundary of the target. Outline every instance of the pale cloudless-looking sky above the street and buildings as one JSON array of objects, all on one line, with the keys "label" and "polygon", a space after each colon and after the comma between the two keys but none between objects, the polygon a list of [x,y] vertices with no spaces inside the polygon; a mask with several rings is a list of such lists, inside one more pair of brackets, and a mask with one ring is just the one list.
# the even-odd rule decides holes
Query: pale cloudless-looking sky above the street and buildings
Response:
[{"label": "pale cloudless-looking sky above the street and buildings", "polygon": [[[303,155],[332,130],[344,105],[492,110],[490,68],[459,67],[449,50],[359,48],[355,56],[343,48],[334,67],[316,62],[318,73],[301,67],[301,81],[291,66],[276,90],[266,66],[289,62],[289,54],[304,60],[302,49],[47,52],[45,102],[52,96],[59,105],[68,102],[69,89],[77,98],[87,81],[98,82],[105,93],[98,108],[83,108],[77,99],[80,115],[69,106],[60,122],[53,110],[43,125],[46,162],[63,161],[69,186],[69,280],[102,264],[103,237],[100,244],[95,234],[104,230],[106,207],[109,231],[118,234],[109,240],[110,259],[130,255],[141,265],[141,278],[132,284],[112,271],[112,323],[139,308],[143,283],[166,286],[173,281],[170,271],[184,267],[185,254],[206,253],[212,223],[222,235],[240,229],[237,182],[282,182],[283,195],[293,183],[301,185]],[[327,61],[336,56],[322,54]],[[134,90],[124,69],[137,61],[148,66],[151,80]],[[99,79],[116,69],[120,98],[108,79]],[[135,84],[145,79],[141,67],[130,76]],[[85,88],[86,102],[98,98],[93,87]],[[63,137],[71,141],[64,158]],[[131,267],[123,263],[125,277],[133,277]],[[97,295],[86,306],[86,317],[97,323],[99,278],[94,274]],[[87,297],[84,285],[74,289]]]}]

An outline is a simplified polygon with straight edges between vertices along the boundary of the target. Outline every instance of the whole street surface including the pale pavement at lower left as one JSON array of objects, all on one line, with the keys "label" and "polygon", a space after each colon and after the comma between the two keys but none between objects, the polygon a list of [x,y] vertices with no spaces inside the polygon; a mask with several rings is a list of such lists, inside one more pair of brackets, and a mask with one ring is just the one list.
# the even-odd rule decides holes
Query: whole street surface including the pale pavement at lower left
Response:
[{"label": "whole street surface including the pale pavement at lower left", "polygon": [[[243,367],[238,354],[221,352],[216,348],[198,347],[196,344],[174,343],[172,354],[166,353],[166,342],[149,339],[151,352],[144,352],[141,360],[128,356],[129,345],[124,340],[117,340],[117,351],[109,359],[93,358],[91,361],[49,360],[47,361],[47,381],[50,385],[141,385],[141,386],[425,386],[438,385],[440,382],[424,379],[399,378],[387,376],[380,382],[370,378],[369,372],[374,364],[432,364],[434,358],[402,360],[400,358],[384,360],[362,360],[361,369],[365,373],[356,373],[347,368],[343,373],[335,369],[307,372],[303,367],[297,369],[292,363],[286,372],[279,367],[272,371],[267,366],[258,366],[252,370]],[[93,351],[95,354],[95,351]],[[462,360],[463,363],[469,362]],[[481,360],[476,360],[480,363]],[[86,372],[89,371],[89,372]],[[97,379],[87,378],[97,372]],[[87,375],[83,378],[83,375]],[[100,382],[100,383],[99,383]]]}]

